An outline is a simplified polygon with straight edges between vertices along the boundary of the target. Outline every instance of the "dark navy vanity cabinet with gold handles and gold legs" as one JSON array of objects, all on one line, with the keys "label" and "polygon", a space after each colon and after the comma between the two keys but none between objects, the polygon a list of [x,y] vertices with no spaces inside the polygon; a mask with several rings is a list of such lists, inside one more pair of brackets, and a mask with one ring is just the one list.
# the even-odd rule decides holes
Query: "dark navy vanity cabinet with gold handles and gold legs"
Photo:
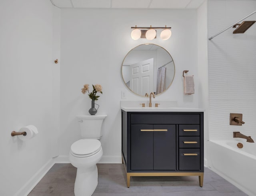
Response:
[{"label": "dark navy vanity cabinet with gold handles and gold legs", "polygon": [[203,112],[122,110],[122,160],[130,176],[204,177]]}]

